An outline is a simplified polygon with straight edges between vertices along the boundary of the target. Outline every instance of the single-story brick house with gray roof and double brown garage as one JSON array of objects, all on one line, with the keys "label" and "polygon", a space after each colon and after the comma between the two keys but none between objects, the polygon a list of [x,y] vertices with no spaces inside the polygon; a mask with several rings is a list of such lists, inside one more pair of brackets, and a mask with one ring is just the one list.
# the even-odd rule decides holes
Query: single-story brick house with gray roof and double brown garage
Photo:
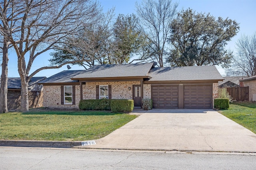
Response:
[{"label": "single-story brick house with gray roof and double brown garage", "polygon": [[215,66],[154,68],[153,63],[103,64],[88,70],[67,70],[40,82],[44,85],[44,107],[78,108],[82,99],[143,98],[153,108],[213,108],[218,97]]}]

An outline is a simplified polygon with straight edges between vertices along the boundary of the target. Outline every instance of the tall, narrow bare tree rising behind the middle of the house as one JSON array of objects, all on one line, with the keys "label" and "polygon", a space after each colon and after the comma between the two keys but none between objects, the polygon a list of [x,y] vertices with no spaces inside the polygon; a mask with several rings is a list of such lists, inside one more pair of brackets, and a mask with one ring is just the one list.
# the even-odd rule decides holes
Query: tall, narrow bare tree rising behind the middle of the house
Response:
[{"label": "tall, narrow bare tree rising behind the middle of the house", "polygon": [[166,41],[177,7],[178,3],[172,0],[142,0],[141,4],[136,3],[140,28],[150,42],[148,53],[160,67],[164,66]]}]

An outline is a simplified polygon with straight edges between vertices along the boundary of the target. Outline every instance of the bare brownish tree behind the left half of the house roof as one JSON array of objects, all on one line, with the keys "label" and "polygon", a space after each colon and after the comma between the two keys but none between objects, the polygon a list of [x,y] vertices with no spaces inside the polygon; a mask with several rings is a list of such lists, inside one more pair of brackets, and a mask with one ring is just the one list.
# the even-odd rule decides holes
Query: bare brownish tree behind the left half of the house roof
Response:
[{"label": "bare brownish tree behind the left half of the house roof", "polygon": [[78,37],[68,37],[58,43],[57,49],[50,55],[51,65],[62,64],[68,61],[84,60],[77,62],[85,69],[94,66],[94,64],[104,64],[111,46],[112,37],[111,21],[114,17],[114,9],[109,10],[106,14],[101,14],[93,25],[90,25],[80,31]]}]

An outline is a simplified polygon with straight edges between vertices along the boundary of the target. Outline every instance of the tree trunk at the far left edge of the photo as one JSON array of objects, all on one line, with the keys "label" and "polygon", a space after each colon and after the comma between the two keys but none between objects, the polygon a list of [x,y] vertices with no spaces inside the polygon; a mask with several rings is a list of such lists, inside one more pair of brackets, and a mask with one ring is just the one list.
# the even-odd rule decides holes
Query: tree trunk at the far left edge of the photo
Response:
[{"label": "tree trunk at the far left edge of the photo", "polygon": [[7,81],[8,81],[8,43],[4,38],[3,44],[3,61],[2,61],[2,74],[1,74],[1,91],[0,91],[0,113],[8,113],[7,108]]}]

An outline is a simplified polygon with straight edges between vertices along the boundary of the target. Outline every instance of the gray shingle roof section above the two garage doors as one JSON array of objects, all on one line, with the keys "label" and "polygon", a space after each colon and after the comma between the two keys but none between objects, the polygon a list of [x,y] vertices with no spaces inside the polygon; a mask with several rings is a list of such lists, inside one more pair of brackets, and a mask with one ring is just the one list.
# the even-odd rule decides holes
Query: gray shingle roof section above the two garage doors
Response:
[{"label": "gray shingle roof section above the two garage doors", "polygon": [[157,67],[148,74],[151,81],[222,80],[215,66]]}]

